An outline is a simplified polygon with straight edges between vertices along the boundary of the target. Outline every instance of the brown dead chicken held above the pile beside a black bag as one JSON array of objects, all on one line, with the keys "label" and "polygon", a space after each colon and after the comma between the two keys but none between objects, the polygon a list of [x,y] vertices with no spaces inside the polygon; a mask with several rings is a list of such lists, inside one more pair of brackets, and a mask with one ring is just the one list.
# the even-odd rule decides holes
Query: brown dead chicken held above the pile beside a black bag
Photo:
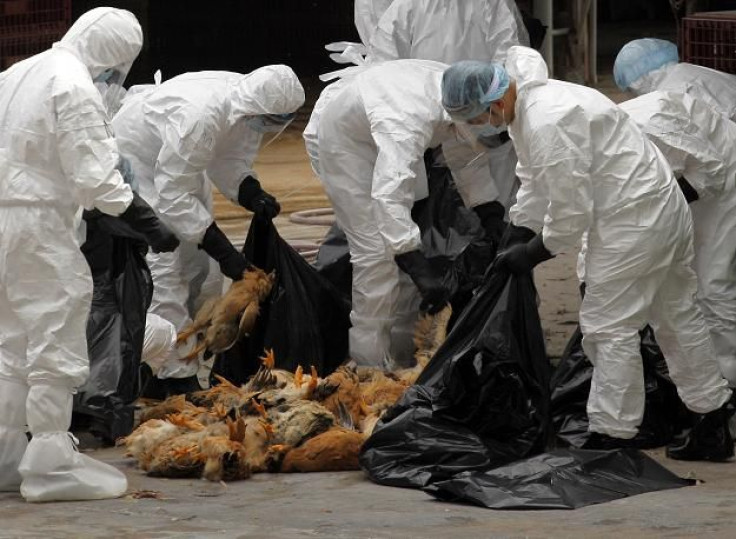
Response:
[{"label": "brown dead chicken held above the pile beside a black bag", "polygon": [[205,350],[219,354],[249,334],[258,317],[259,304],[271,293],[274,279],[274,272],[266,274],[258,268],[249,269],[221,298],[205,302],[192,324],[177,337],[178,344],[192,335],[199,339],[197,346],[182,360],[193,360]]}]

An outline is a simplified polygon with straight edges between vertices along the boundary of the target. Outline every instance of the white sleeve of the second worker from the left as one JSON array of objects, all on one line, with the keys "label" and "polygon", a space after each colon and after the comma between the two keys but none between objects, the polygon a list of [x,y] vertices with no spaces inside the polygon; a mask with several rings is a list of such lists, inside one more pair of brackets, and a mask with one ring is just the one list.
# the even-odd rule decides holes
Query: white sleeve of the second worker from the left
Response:
[{"label": "white sleeve of the second worker from the left", "polygon": [[214,137],[205,121],[178,121],[162,126],[163,145],[156,160],[157,210],[183,239],[199,243],[214,217],[197,198],[207,181],[204,171],[214,154]]}]

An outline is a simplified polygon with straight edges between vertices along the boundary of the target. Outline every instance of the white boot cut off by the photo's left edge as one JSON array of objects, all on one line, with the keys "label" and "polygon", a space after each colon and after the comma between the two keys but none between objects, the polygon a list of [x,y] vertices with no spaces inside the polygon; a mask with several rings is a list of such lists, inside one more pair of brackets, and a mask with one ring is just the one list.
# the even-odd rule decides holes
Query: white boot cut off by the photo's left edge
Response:
[{"label": "white boot cut off by the photo's left edge", "polygon": [[0,377],[0,492],[18,492],[20,461],[28,446],[24,381]]}]

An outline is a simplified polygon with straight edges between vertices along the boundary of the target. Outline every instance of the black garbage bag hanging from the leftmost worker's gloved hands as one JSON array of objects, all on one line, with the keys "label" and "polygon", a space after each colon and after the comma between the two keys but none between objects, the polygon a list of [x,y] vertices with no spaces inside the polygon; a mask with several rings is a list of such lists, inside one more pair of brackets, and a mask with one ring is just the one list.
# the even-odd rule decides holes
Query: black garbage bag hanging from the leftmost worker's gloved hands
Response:
[{"label": "black garbage bag hanging from the leftmost worker's gloved hands", "polygon": [[94,283],[87,320],[90,374],[74,396],[73,423],[106,443],[133,429],[146,311],[153,294],[147,249],[142,237],[119,219],[87,221],[82,252]]}]

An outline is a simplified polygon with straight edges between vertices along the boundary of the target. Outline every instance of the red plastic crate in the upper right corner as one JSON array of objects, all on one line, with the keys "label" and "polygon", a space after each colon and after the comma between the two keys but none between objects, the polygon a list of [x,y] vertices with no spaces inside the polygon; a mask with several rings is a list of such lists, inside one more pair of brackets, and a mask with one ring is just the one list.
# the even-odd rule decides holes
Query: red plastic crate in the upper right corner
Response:
[{"label": "red plastic crate in the upper right corner", "polygon": [[694,13],[683,18],[681,58],[736,73],[736,11]]}]

